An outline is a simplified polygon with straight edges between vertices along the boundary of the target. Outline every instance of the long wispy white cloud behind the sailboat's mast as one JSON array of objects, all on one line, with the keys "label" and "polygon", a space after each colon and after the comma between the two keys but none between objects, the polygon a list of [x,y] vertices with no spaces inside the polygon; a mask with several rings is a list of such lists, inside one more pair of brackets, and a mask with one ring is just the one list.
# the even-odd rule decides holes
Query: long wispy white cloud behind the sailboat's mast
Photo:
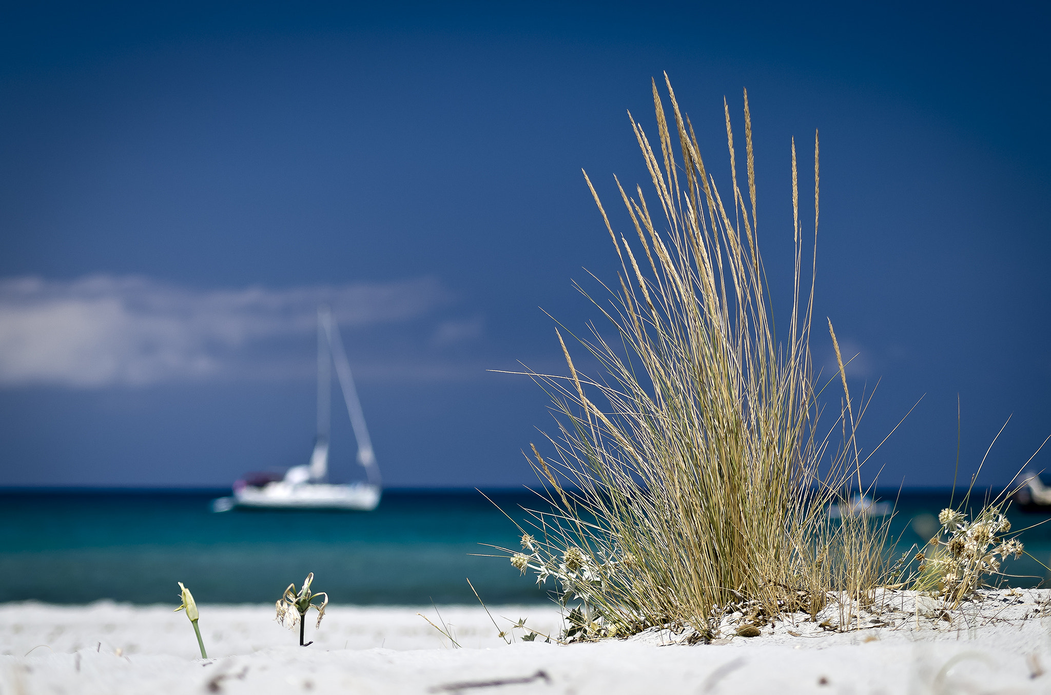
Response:
[{"label": "long wispy white cloud behind the sailboat's mast", "polygon": [[212,291],[141,276],[0,279],[0,385],[235,378],[246,363],[280,372],[281,359],[260,362],[255,353],[312,336],[321,303],[353,331],[426,320],[450,300],[433,278]]}]

